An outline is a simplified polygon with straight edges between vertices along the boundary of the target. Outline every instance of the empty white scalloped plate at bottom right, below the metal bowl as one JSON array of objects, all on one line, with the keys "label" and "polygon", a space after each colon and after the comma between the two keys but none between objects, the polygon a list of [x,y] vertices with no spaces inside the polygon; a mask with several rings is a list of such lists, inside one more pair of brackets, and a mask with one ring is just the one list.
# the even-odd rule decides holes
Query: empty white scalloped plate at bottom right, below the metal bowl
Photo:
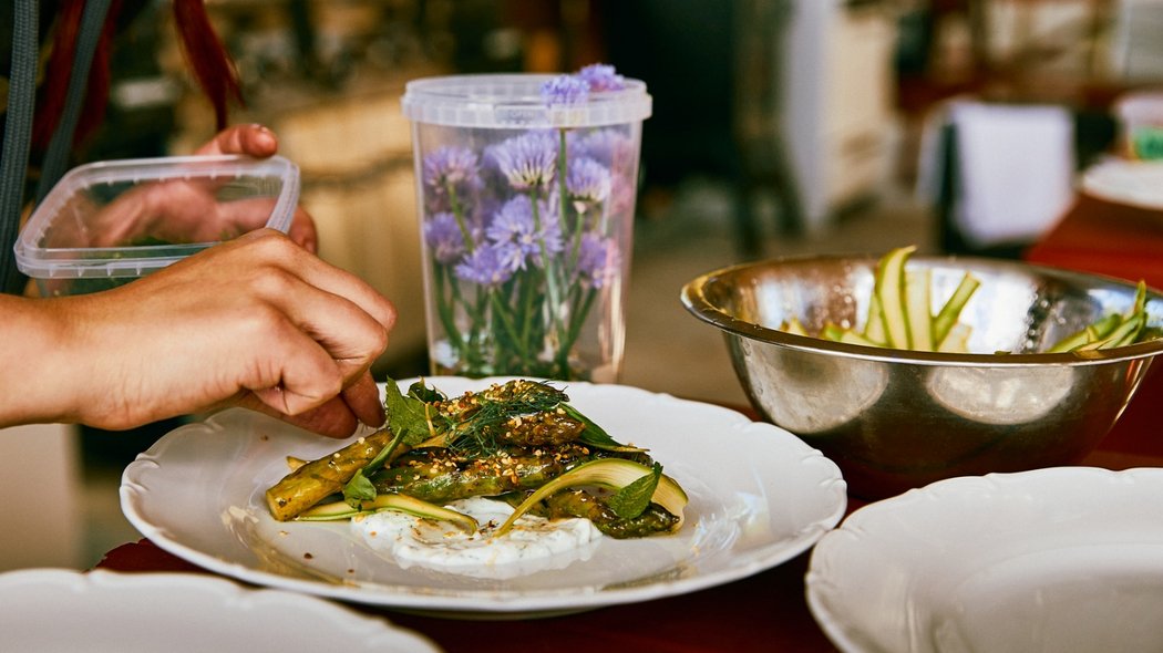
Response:
[{"label": "empty white scalloped plate at bottom right, below the metal bowl", "polygon": [[848,652],[1158,651],[1163,469],[940,481],[820,540],[808,605]]}]

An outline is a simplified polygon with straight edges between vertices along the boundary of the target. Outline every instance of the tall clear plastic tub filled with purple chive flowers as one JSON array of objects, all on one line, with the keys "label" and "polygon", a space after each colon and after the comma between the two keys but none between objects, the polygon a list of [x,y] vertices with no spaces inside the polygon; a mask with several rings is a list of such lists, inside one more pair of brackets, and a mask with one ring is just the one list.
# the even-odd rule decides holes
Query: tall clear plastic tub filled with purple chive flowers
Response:
[{"label": "tall clear plastic tub filled with purple chive flowers", "polygon": [[616,381],[645,84],[437,77],[402,107],[433,373]]}]

